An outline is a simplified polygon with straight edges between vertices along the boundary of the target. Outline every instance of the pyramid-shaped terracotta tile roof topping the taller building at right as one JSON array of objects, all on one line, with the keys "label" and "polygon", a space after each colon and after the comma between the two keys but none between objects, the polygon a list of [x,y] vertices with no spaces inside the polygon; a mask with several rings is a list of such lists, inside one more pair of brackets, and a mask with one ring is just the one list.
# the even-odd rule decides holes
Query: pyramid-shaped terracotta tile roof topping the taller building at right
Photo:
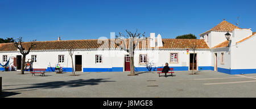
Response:
[{"label": "pyramid-shaped terracotta tile roof topping the taller building at right", "polygon": [[227,22],[226,20],[223,20],[217,26],[210,29],[210,31],[229,31],[229,32],[232,32],[234,29],[241,29],[241,28],[235,26],[232,23]]}]

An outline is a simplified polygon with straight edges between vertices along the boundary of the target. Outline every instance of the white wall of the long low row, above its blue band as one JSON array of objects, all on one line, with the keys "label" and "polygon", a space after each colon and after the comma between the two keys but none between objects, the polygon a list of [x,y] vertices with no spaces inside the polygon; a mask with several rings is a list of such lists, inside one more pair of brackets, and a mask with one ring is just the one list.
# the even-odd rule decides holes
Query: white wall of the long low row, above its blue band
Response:
[{"label": "white wall of the long low row, above its blue band", "polygon": [[[170,63],[170,53],[178,53],[178,63]],[[192,53],[192,51],[189,51]],[[198,50],[197,60],[198,66],[210,66],[210,51],[209,50]],[[95,55],[102,54],[102,64],[95,63]],[[82,55],[82,68],[112,68],[112,67],[124,67],[125,54],[129,54],[125,51],[120,50],[77,50],[73,53],[73,60],[75,62],[75,55]],[[164,66],[166,62],[170,66],[188,66],[189,65],[189,54],[185,49],[173,49],[173,50],[140,50],[135,51],[134,63],[136,67],[146,67],[146,64],[139,64],[139,54],[147,54],[147,60],[155,63],[155,66]],[[19,52],[0,52],[0,60],[2,61],[3,56],[7,55],[16,57],[21,55]],[[31,59],[31,55],[36,55],[37,62],[33,63],[33,68],[55,68],[57,64],[60,64],[63,68],[72,68],[71,57],[68,51],[31,51],[26,56],[26,59]],[[59,55],[64,55],[64,62],[59,63]],[[10,60],[13,65],[13,60]],[[75,64],[75,63],[74,63]]]}]

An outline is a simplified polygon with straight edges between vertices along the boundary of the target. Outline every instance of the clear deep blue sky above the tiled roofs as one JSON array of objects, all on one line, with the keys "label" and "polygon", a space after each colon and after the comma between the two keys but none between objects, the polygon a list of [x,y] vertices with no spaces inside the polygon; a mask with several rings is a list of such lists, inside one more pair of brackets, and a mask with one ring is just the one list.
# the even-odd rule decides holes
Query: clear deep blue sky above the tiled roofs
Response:
[{"label": "clear deep blue sky above the tiled roofs", "polygon": [[1,0],[0,37],[24,41],[98,39],[110,32],[160,33],[162,38],[199,37],[224,18],[256,31],[255,0],[217,1],[48,1]]}]

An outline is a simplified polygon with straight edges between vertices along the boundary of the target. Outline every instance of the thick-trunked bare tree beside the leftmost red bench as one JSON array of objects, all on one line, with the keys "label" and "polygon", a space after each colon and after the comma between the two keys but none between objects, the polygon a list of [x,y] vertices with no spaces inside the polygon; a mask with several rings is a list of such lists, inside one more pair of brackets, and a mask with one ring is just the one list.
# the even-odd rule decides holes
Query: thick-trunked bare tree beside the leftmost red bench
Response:
[{"label": "thick-trunked bare tree beside the leftmost red bench", "polygon": [[[30,43],[27,45],[28,49],[26,50],[25,48],[23,48],[23,41],[22,41],[22,37],[18,38],[18,42],[15,40],[14,42],[14,46],[19,49],[19,52],[22,54],[22,65],[21,65],[21,74],[24,74],[24,64],[25,64],[25,60],[26,60],[26,56],[27,54],[30,53],[31,49],[35,47],[35,42],[36,40],[32,40],[30,41]],[[25,45],[26,46],[26,45]]]}]

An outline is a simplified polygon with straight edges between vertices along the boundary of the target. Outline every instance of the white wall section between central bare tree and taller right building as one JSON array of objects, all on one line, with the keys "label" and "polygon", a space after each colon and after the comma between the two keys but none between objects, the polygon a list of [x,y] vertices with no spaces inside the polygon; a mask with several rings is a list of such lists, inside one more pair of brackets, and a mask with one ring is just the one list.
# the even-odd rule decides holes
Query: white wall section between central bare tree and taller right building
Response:
[{"label": "white wall section between central bare tree and taller right building", "polygon": [[[156,50],[156,51],[139,51],[135,53],[135,60],[139,60],[139,54],[148,54],[148,60],[155,62],[156,66],[164,66],[168,62],[169,66],[189,66],[189,54],[186,49],[174,49],[174,50]],[[170,54],[178,53],[178,62],[170,62]],[[193,51],[189,51],[193,53]],[[210,51],[209,50],[197,50],[197,66],[210,66]],[[135,62],[135,66],[143,67]]]}]

